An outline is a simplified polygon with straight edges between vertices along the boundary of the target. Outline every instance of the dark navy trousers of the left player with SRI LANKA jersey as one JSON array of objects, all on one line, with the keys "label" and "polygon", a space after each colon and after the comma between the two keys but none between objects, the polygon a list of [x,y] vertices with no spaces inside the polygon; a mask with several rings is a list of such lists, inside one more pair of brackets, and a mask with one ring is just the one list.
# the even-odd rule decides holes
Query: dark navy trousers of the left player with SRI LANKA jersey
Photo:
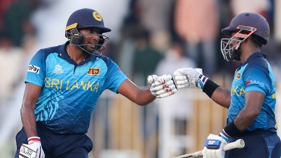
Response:
[{"label": "dark navy trousers of the left player with SRI LANKA jersey", "polygon": [[[88,153],[93,149],[93,143],[85,133],[58,134],[48,130],[40,123],[37,123],[37,133],[46,158],[87,158]],[[16,134],[15,158],[18,158],[21,144],[28,144],[27,139],[26,132],[22,128]]]}]

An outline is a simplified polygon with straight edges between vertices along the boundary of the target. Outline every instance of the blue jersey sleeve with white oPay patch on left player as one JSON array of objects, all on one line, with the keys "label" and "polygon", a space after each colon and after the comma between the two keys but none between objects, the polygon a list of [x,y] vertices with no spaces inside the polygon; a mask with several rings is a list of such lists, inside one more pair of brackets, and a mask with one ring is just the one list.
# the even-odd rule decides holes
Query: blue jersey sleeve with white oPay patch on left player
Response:
[{"label": "blue jersey sleeve with white oPay patch on left player", "polygon": [[45,55],[39,50],[30,60],[25,82],[43,86],[46,77]]}]

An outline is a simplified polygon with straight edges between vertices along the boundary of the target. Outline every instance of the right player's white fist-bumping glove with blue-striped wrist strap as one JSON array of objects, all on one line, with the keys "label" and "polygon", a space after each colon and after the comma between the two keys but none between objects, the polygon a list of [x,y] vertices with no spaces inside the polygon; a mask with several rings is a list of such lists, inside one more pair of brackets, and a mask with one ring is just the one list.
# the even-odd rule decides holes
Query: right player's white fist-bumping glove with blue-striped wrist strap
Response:
[{"label": "right player's white fist-bumping glove with blue-striped wrist strap", "polygon": [[208,80],[202,74],[202,69],[193,69],[192,67],[178,69],[174,72],[174,75],[179,88],[197,86],[203,89],[204,84]]}]

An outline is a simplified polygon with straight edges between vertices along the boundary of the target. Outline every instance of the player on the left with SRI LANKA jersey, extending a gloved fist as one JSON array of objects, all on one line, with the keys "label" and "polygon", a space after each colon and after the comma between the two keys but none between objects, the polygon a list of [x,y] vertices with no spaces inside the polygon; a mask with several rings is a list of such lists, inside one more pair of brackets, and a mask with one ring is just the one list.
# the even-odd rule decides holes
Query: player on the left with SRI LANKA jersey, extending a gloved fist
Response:
[{"label": "player on the left with SRI LANKA jersey, extending a gloved fist", "polygon": [[150,87],[139,88],[101,54],[111,29],[97,11],[73,12],[65,31],[66,43],[39,50],[28,66],[15,157],[88,157],[93,143],[85,133],[105,89],[138,105],[177,92],[171,75],[149,75]]}]

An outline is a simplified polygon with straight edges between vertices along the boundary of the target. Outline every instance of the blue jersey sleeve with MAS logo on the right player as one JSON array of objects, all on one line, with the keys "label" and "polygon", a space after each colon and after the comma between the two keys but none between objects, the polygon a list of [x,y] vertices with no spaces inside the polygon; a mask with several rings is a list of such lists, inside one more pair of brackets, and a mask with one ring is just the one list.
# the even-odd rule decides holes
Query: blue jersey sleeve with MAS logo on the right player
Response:
[{"label": "blue jersey sleeve with MAS logo on the right player", "polygon": [[271,89],[271,79],[266,67],[254,64],[249,65],[244,71],[245,92],[258,91],[268,94]]}]

